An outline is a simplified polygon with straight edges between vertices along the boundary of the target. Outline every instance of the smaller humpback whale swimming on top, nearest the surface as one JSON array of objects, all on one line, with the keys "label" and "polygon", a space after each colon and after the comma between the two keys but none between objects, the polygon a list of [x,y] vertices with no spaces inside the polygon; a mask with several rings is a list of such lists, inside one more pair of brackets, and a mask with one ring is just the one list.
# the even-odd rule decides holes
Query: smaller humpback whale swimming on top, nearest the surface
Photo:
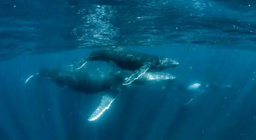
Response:
[{"label": "smaller humpback whale swimming on top, nearest the surface", "polygon": [[147,71],[161,71],[166,68],[176,67],[179,64],[177,61],[170,58],[134,52],[122,47],[104,47],[91,52],[85,59],[75,60],[74,62],[80,64],[77,68],[79,69],[82,68],[86,62],[95,60],[111,62],[124,70],[134,71],[127,76],[123,85],[131,84]]}]

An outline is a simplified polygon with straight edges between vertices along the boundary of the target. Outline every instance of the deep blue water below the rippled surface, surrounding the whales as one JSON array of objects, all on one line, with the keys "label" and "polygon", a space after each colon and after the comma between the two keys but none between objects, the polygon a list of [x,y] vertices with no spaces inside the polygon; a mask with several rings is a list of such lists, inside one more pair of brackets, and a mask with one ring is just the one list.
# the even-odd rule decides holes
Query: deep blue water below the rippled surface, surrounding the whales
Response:
[{"label": "deep blue water below the rippled surface, surrounding the whales", "polygon": [[[256,60],[253,52],[192,45],[180,47],[179,44],[159,47],[164,51],[156,47],[130,49],[178,60],[180,66],[166,72],[185,84],[217,83],[218,87],[205,89],[204,93],[147,88],[126,91],[100,120],[88,122],[100,95],[83,95],[36,78],[23,84],[42,66],[69,64],[72,58],[82,57],[90,50],[22,55],[1,62],[1,137],[12,140],[255,138]],[[221,88],[222,85],[232,88]]]}]

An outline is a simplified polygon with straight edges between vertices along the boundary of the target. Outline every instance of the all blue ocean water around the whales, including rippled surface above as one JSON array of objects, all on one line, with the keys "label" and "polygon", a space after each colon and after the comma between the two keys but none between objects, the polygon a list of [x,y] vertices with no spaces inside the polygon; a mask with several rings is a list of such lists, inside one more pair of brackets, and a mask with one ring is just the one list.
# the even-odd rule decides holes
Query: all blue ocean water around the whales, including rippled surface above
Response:
[{"label": "all blue ocean water around the whales, including rippled surface above", "polygon": [[[0,140],[255,140],[255,4],[0,0]],[[124,91],[88,122],[101,95],[24,84],[102,46],[177,60],[178,86]]]}]

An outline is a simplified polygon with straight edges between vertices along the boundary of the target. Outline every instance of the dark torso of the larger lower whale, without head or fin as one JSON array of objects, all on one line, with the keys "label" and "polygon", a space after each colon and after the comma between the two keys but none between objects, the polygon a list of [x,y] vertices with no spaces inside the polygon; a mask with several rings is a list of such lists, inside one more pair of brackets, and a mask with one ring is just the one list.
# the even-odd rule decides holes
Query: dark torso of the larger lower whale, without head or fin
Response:
[{"label": "dark torso of the larger lower whale, without head or fin", "polygon": [[88,62],[86,66],[76,70],[74,65],[58,68],[42,68],[40,75],[54,81],[58,86],[67,86],[84,93],[97,93],[110,90],[122,83],[113,66],[106,62]]}]

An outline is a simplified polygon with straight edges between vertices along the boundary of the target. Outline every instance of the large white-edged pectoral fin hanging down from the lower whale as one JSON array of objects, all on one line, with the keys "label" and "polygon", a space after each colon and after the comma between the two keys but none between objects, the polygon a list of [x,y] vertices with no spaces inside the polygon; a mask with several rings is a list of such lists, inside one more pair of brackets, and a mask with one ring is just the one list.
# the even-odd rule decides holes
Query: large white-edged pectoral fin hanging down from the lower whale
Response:
[{"label": "large white-edged pectoral fin hanging down from the lower whale", "polygon": [[95,111],[92,113],[92,115],[90,116],[90,118],[88,119],[88,121],[95,121],[98,118],[100,118],[100,116],[109,109],[110,105],[113,103],[113,101],[116,98],[113,97],[112,95],[109,94],[105,94],[101,101],[100,101],[100,105],[98,105],[98,107],[95,109]]}]

